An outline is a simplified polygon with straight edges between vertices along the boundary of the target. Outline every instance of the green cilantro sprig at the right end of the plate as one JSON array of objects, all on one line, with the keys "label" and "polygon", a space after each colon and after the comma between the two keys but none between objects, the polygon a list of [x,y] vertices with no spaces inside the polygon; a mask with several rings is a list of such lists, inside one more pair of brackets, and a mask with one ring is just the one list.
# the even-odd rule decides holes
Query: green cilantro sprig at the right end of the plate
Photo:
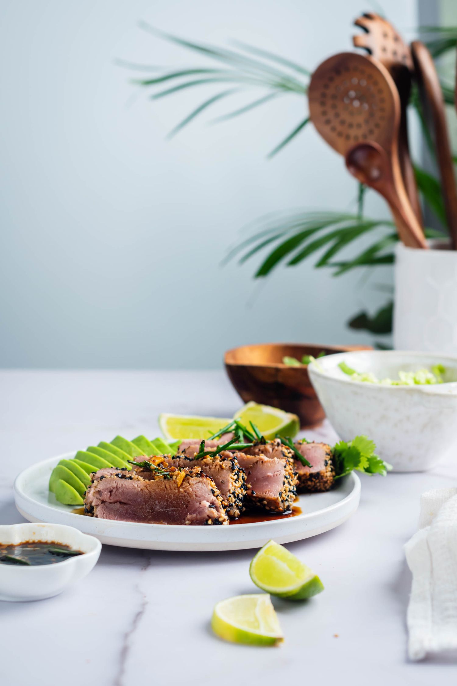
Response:
[{"label": "green cilantro sprig at the right end of the plate", "polygon": [[332,450],[335,479],[346,476],[354,469],[365,474],[386,476],[392,466],[375,455],[375,443],[367,436],[356,436],[349,442],[340,440]]}]

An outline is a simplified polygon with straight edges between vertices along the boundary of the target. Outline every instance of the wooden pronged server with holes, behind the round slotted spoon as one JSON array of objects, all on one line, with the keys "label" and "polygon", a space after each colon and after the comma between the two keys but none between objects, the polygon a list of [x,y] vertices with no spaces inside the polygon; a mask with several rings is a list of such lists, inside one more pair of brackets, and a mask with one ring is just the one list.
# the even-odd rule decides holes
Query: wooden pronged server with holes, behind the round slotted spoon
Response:
[{"label": "wooden pronged server with holes, behind the round slotted spoon", "polygon": [[414,169],[412,167],[408,145],[408,119],[406,108],[411,92],[411,78],[414,70],[410,47],[404,42],[402,36],[395,31],[394,27],[375,12],[366,12],[354,21],[366,33],[353,36],[355,47],[360,47],[381,62],[395,81],[400,97],[400,128],[398,137],[398,156],[406,193],[412,209],[422,224],[422,211],[419,202],[419,193]]}]

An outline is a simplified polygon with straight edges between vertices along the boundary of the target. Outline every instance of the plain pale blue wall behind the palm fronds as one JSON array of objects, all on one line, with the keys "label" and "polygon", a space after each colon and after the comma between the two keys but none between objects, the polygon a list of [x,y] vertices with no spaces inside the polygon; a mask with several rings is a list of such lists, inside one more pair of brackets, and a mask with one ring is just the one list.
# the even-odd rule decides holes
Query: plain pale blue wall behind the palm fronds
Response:
[{"label": "plain pale blue wall behind the palm fronds", "polygon": [[[264,213],[351,205],[354,181],[312,128],[265,159],[304,102],[287,97],[207,126],[221,104],[169,142],[206,91],[156,103],[143,93],[128,104],[129,74],[114,65],[201,63],[140,32],[143,18],[189,38],[255,43],[312,69],[350,49],[362,5],[1,0],[0,366],[215,367],[245,342],[363,342],[345,322],[386,295],[360,274],[334,280],[309,263],[259,287],[254,263],[219,267],[239,228]],[[414,0],[382,5],[400,29],[416,25]],[[383,270],[372,282],[390,279]]]}]

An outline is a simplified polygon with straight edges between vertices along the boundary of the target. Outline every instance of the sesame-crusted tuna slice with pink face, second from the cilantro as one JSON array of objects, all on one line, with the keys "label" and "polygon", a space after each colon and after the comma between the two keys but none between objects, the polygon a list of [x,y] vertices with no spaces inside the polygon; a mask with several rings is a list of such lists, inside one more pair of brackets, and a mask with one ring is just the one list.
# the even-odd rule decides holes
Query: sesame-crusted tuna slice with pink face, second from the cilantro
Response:
[{"label": "sesame-crusted tuna slice with pink face, second from the cilantro", "polygon": [[[249,448],[247,451],[250,450]],[[235,453],[249,483],[247,499],[256,507],[271,512],[290,510],[295,499],[297,475],[293,458],[284,451],[279,457]]]}]

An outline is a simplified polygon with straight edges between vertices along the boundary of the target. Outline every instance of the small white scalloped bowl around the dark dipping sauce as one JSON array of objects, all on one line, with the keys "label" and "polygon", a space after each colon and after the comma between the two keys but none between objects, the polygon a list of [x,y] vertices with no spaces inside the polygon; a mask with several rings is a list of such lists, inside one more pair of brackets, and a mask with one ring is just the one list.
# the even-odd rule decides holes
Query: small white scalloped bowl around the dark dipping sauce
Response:
[{"label": "small white scalloped bowl around the dark dipping sauce", "polygon": [[55,541],[80,550],[83,555],[52,565],[4,565],[0,563],[0,600],[43,600],[62,593],[67,586],[84,578],[97,562],[101,543],[63,524],[12,524],[0,526],[0,543]]}]

